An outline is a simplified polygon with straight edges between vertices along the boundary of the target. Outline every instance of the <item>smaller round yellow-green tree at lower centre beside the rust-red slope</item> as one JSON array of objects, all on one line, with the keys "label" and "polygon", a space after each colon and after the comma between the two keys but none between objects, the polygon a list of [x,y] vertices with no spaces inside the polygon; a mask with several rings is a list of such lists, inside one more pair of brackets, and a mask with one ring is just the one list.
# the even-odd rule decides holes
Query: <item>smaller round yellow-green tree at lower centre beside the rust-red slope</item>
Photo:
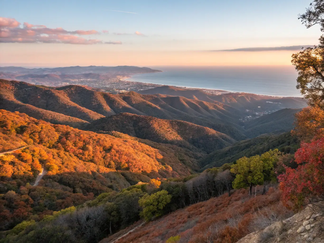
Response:
[{"label": "smaller round yellow-green tree at lower centre beside the rust-red slope", "polygon": [[163,208],[171,202],[171,195],[168,191],[162,190],[154,194],[147,193],[138,200],[138,204],[143,208],[140,213],[146,221],[150,221],[153,216],[158,217],[163,215]]}]

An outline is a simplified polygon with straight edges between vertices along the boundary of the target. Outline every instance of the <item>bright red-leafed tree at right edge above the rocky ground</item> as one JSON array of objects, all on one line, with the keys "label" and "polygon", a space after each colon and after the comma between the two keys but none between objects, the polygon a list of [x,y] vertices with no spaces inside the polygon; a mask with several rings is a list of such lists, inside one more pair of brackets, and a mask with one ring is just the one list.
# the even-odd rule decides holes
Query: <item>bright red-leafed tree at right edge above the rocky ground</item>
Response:
[{"label": "bright red-leafed tree at right edge above the rocky ground", "polygon": [[286,173],[278,177],[284,201],[297,207],[305,199],[323,198],[324,195],[324,138],[311,143],[301,143],[295,153],[296,169],[285,167]]}]

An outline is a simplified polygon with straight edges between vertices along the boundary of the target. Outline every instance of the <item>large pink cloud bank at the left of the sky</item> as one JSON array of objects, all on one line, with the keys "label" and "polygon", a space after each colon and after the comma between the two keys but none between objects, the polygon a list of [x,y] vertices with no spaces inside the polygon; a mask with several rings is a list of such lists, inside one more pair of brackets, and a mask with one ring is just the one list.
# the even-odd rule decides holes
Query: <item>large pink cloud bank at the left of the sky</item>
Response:
[{"label": "large pink cloud bank at the left of the sky", "polygon": [[[97,30],[68,31],[63,28],[51,29],[45,25],[33,25],[25,22],[23,27],[14,18],[0,17],[0,42],[5,43],[66,43],[66,44],[121,44],[120,41],[103,42],[98,39],[85,39],[80,35],[98,35]],[[108,32],[108,31],[107,31]]]}]

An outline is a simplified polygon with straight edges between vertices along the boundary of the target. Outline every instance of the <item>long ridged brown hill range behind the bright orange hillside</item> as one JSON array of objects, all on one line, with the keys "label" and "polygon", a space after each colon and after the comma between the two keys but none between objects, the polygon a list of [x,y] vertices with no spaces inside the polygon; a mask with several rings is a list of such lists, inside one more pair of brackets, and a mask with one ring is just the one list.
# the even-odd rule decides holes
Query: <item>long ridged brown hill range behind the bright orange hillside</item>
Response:
[{"label": "long ridged brown hill range behind the bright orange hillside", "polygon": [[[246,138],[239,125],[236,109],[183,97],[143,96],[135,92],[112,95],[81,86],[57,89],[35,86],[24,82],[0,80],[0,108],[22,111],[52,123],[80,123],[104,116],[129,112],[161,119],[188,121],[225,133],[235,140]],[[237,112],[235,112],[237,111]],[[53,113],[55,112],[55,113]],[[57,113],[64,114],[62,118]],[[55,114],[55,115],[53,115]],[[57,118],[57,119],[56,119]],[[83,120],[83,121],[81,121]]]}]

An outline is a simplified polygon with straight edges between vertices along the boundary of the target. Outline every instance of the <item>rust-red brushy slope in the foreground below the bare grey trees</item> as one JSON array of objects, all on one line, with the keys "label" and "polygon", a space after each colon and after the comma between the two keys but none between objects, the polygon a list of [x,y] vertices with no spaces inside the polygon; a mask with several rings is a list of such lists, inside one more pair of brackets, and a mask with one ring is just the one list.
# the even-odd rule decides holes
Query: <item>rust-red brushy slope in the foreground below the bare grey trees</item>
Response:
[{"label": "rust-red brushy slope in the foreground below the bare grey trees", "polygon": [[[259,189],[262,190],[261,187]],[[237,242],[254,231],[252,226],[256,218],[265,210],[271,210],[277,217],[289,214],[280,202],[279,190],[271,188],[265,195],[261,195],[259,190],[258,193],[255,198],[249,198],[248,191],[240,189],[230,197],[225,193],[220,197],[195,203],[149,222],[116,242],[157,243],[166,242],[175,236],[180,236],[178,242]],[[113,235],[109,241],[133,227]]]}]

